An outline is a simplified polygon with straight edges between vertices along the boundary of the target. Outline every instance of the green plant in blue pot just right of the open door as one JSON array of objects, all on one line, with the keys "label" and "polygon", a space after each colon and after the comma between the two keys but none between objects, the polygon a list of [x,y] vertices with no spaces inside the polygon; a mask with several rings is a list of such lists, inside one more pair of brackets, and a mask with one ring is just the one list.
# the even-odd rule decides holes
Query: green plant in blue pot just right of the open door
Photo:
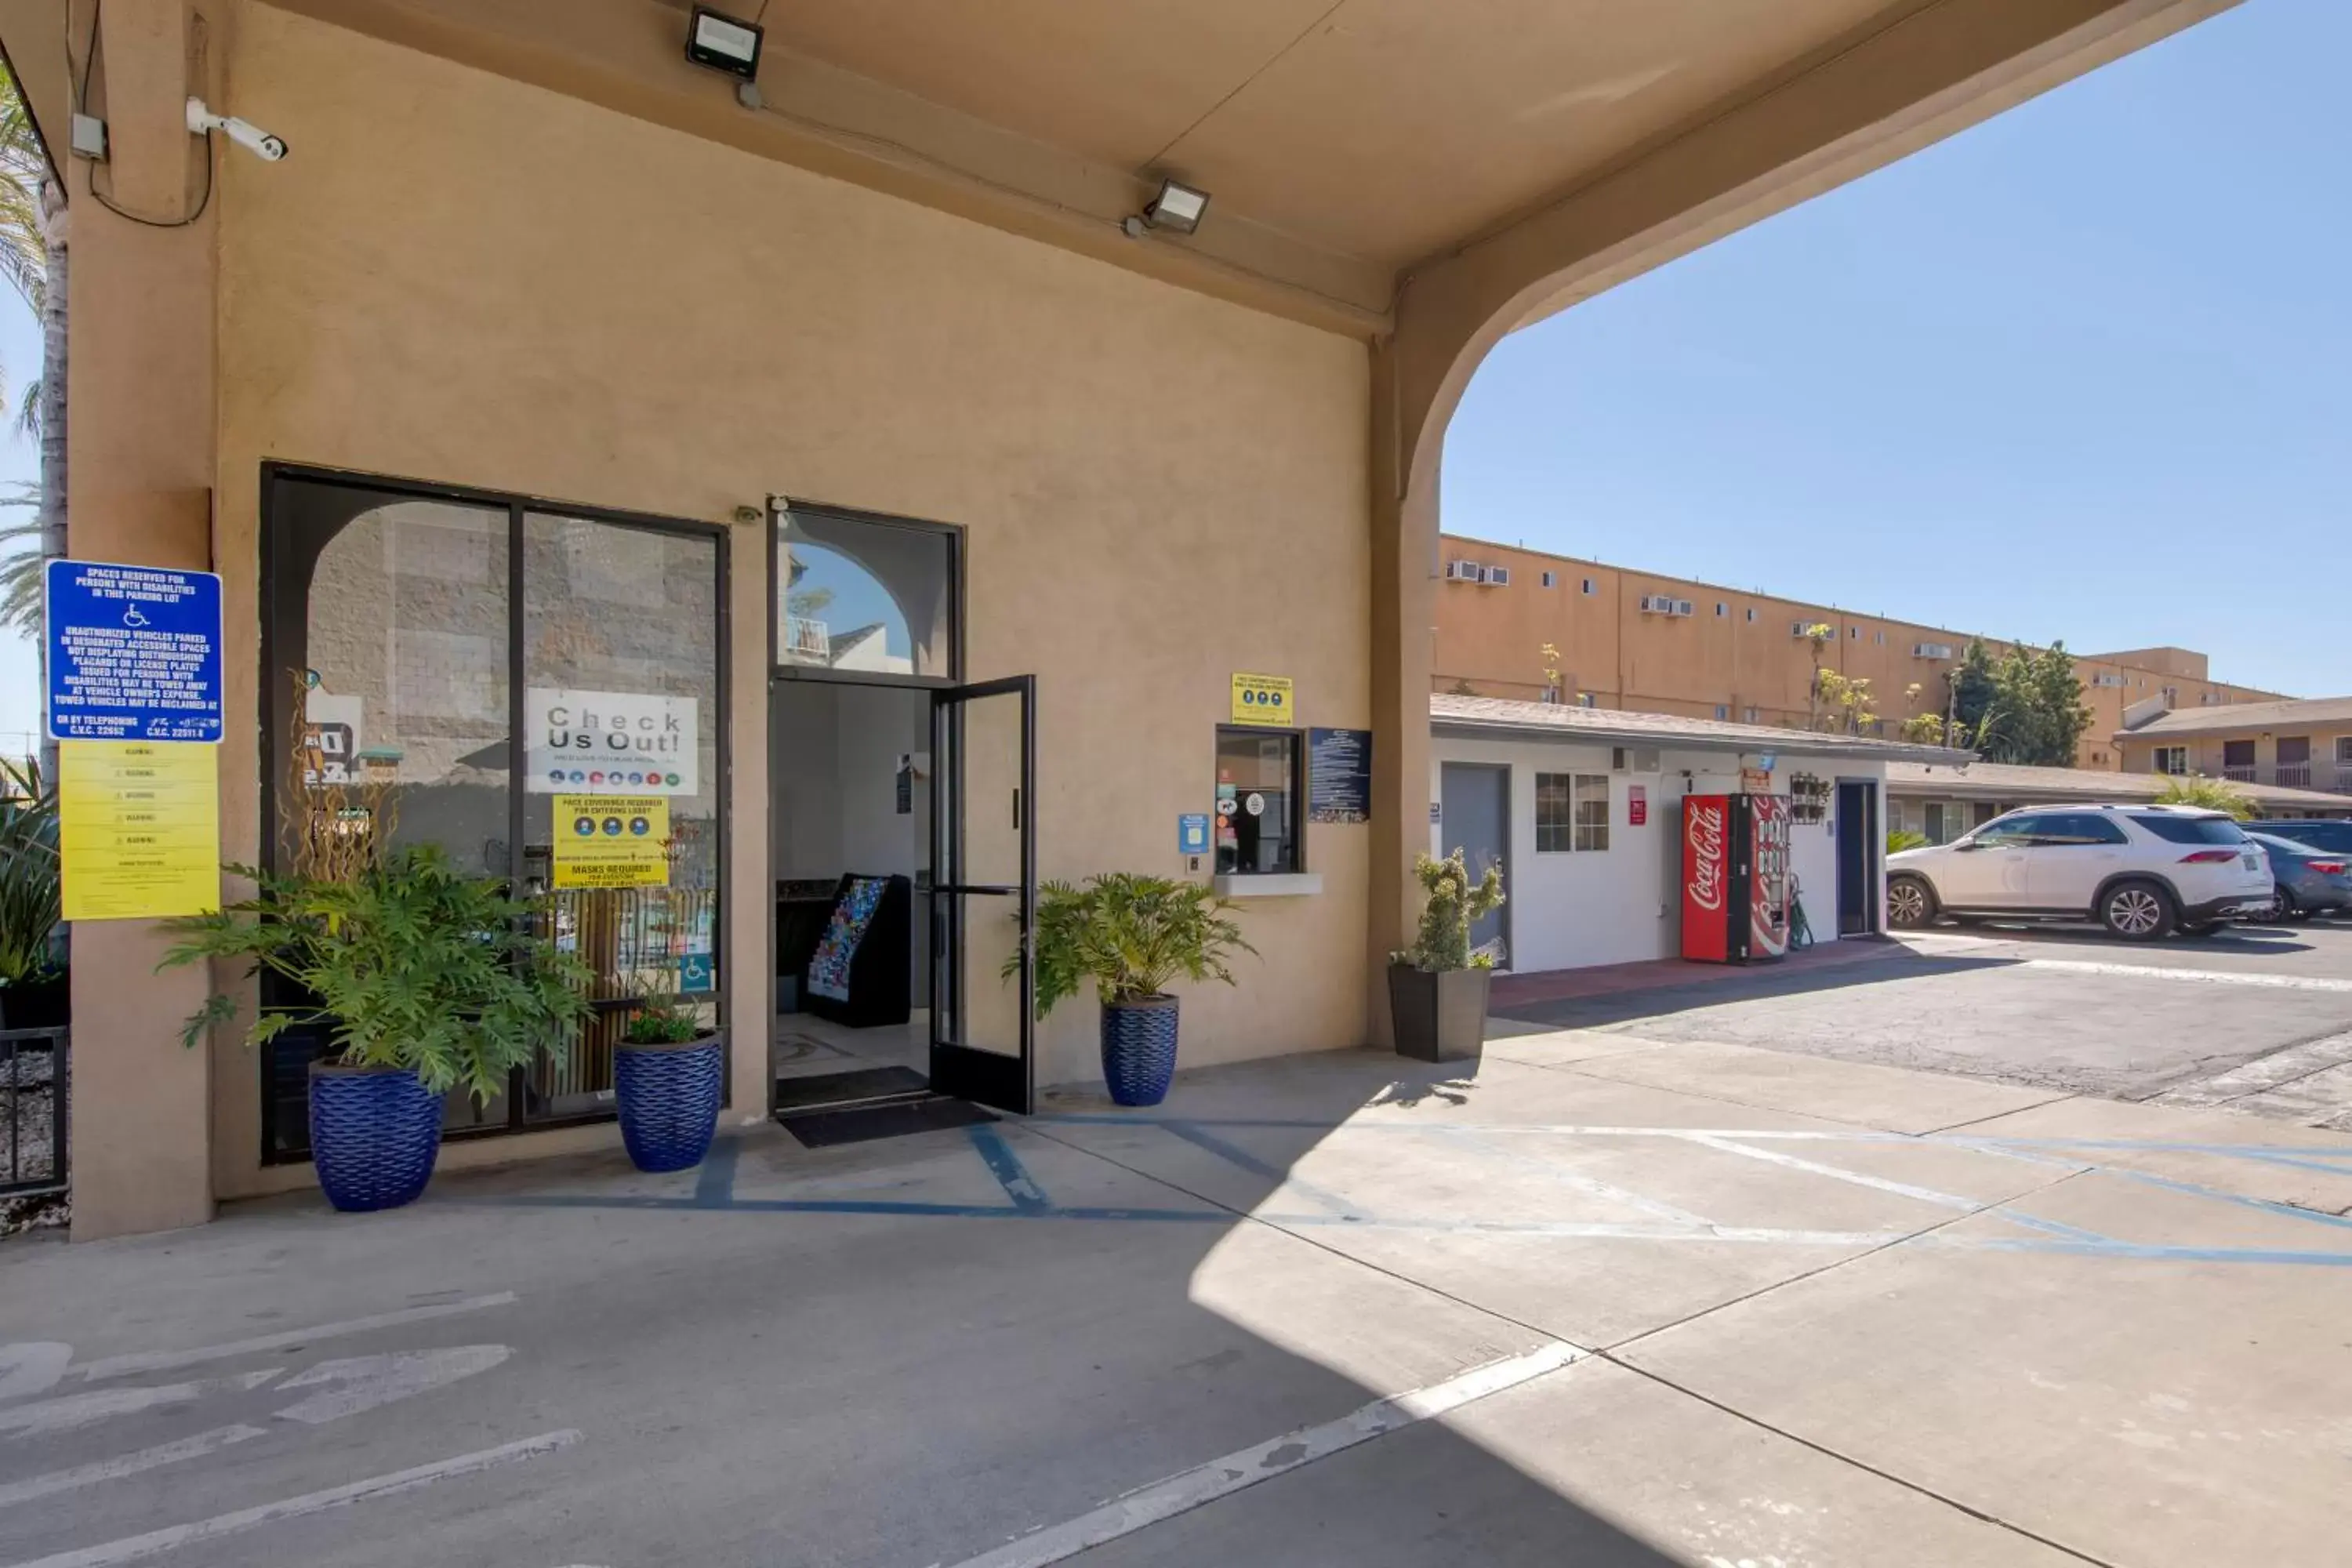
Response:
[{"label": "green plant in blue pot just right of the open door", "polygon": [[[1160,1105],[1176,1074],[1176,997],[1183,980],[1232,985],[1225,959],[1256,954],[1235,905],[1200,882],[1105,872],[1084,886],[1037,889],[1037,1016],[1094,980],[1103,1004],[1103,1081],[1117,1105]],[[1021,954],[1004,959],[1004,978]]]}]

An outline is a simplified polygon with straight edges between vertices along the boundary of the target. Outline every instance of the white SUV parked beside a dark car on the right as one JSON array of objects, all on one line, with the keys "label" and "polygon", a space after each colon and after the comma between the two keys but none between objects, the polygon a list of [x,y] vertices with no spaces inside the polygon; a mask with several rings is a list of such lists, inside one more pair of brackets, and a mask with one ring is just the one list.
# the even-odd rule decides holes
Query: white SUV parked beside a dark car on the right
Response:
[{"label": "white SUV parked beside a dark car on the right", "polygon": [[2096,919],[2136,943],[2204,936],[2270,903],[2270,856],[2220,811],[2027,806],[1976,832],[1886,856],[1886,917]]}]

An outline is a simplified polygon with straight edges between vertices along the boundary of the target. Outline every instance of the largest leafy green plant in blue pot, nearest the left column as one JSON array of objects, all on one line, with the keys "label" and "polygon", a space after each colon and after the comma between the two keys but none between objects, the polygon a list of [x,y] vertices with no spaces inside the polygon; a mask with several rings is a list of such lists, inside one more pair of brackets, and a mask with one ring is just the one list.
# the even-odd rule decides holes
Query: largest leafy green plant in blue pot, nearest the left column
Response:
[{"label": "largest leafy green plant in blue pot, nearest the left column", "polygon": [[[534,907],[492,877],[461,872],[435,844],[379,851],[379,820],[341,818],[369,844],[339,875],[273,875],[230,865],[254,896],[172,922],[162,966],[247,959],[306,1006],[270,1009],[245,1032],[261,1046],[285,1030],[325,1030],[332,1056],[310,1067],[310,1159],[343,1211],[414,1201],[440,1152],[442,1100],[477,1103],[541,1048],[588,1018],[588,969],[534,933]],[[212,994],[181,1030],[195,1046],[235,1016]]]}]

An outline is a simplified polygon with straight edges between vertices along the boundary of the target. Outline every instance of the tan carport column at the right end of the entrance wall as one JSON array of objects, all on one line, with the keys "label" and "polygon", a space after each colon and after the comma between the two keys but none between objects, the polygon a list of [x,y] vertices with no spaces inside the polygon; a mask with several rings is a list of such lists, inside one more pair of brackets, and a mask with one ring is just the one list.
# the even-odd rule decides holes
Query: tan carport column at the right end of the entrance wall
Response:
[{"label": "tan carport column at the right end of the entrance wall", "polygon": [[[1406,480],[1395,341],[1371,350],[1371,1041],[1395,1044],[1388,954],[1421,919],[1430,846],[1430,670],[1437,644],[1437,475]],[[1435,468],[1435,465],[1430,465]]]}]

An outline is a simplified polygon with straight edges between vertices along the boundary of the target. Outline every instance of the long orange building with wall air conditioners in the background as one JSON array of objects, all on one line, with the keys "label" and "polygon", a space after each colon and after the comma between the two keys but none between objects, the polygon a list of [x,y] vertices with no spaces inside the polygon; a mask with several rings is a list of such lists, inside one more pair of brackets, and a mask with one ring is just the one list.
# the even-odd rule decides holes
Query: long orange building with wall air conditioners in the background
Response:
[{"label": "long orange building with wall air conditioners in the background", "polygon": [[[1679,712],[1731,724],[1804,724],[1816,644],[1820,668],[1867,679],[1882,719],[1945,710],[1945,672],[1976,632],[1865,616],[1816,599],[1675,578],[1446,534],[1437,592],[1437,691]],[[1985,637],[1994,654],[2009,644]],[[1557,663],[1543,654],[1557,649]],[[1545,679],[1550,668],[1559,679]],[[2216,682],[2190,649],[2077,654],[2091,710],[2077,748],[2084,769],[2122,769],[2114,731],[2152,698],[2171,708],[2277,696]],[[1917,686],[1917,693],[1912,693]]]}]

